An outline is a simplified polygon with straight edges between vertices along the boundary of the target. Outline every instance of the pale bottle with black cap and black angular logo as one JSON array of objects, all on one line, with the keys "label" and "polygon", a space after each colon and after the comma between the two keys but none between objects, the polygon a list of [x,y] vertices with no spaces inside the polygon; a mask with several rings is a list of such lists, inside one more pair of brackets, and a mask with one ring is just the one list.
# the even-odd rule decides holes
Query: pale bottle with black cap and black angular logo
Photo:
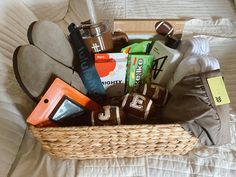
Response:
[{"label": "pale bottle with black cap and black angular logo", "polygon": [[167,36],[165,44],[155,41],[150,54],[154,56],[152,66],[152,83],[167,86],[173,76],[182,54],[176,50],[180,40]]}]

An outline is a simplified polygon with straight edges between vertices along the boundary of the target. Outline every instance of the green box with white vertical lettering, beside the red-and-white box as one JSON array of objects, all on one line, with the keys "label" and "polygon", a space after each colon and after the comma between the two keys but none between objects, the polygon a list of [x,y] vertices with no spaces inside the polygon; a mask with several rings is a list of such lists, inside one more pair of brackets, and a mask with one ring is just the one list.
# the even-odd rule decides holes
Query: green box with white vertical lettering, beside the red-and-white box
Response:
[{"label": "green box with white vertical lettering, beside the red-and-white box", "polygon": [[126,75],[126,91],[138,91],[151,80],[153,55],[129,54]]}]

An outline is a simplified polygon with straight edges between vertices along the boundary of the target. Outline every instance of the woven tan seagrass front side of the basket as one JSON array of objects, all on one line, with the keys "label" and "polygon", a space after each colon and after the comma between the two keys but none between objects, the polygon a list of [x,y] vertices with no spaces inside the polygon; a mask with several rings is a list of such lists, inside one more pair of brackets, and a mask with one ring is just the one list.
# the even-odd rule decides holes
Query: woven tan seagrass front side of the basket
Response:
[{"label": "woven tan seagrass front side of the basket", "polygon": [[44,150],[63,159],[184,155],[198,141],[179,124],[30,129]]}]

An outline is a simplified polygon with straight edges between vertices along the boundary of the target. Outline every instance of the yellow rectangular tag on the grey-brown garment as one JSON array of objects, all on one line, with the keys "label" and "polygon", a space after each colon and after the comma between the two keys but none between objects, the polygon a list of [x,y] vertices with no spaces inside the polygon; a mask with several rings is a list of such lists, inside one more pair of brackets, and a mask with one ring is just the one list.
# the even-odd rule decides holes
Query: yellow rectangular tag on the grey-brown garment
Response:
[{"label": "yellow rectangular tag on the grey-brown garment", "polygon": [[230,103],[222,76],[208,78],[207,82],[216,106]]}]

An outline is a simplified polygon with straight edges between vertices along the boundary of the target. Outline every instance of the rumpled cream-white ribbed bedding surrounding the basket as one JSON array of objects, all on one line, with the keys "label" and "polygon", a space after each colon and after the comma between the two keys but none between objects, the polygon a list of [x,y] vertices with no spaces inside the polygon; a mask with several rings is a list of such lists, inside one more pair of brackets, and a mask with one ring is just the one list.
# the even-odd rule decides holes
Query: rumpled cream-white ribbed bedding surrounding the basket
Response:
[{"label": "rumpled cream-white ribbed bedding surrounding the basket", "polygon": [[[23,3],[22,3],[23,2]],[[231,0],[95,1],[102,18],[199,18],[186,23],[183,38],[204,35],[218,58],[232,102],[232,143],[197,146],[185,156],[61,160],[47,155],[24,119],[34,104],[21,91],[11,57],[27,43],[28,25],[56,21],[65,31],[71,21],[88,17],[84,0],[2,0],[0,2],[0,174],[1,177],[152,177],[236,176],[236,10]],[[68,8],[68,5],[70,6]],[[104,12],[104,9],[108,9]],[[65,16],[65,18],[64,18]],[[213,20],[210,17],[220,17]],[[229,20],[230,19],[230,20]]]}]

